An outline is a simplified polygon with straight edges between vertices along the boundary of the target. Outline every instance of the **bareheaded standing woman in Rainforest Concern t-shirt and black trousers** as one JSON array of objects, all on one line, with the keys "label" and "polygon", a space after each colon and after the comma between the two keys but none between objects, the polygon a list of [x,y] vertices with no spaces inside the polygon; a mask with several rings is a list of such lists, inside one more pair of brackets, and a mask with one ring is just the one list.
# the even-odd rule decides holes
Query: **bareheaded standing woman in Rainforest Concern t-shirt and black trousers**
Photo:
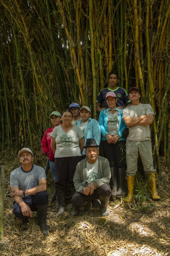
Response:
[{"label": "bareheaded standing woman in Rainforest Concern t-shirt and black trousers", "polygon": [[51,133],[51,149],[55,157],[55,168],[58,179],[55,182],[58,195],[58,217],[65,211],[65,197],[67,185],[71,185],[71,194],[74,194],[73,177],[78,162],[81,161],[81,152],[84,147],[82,130],[71,124],[73,114],[64,110],[61,116],[62,124],[54,128]]}]

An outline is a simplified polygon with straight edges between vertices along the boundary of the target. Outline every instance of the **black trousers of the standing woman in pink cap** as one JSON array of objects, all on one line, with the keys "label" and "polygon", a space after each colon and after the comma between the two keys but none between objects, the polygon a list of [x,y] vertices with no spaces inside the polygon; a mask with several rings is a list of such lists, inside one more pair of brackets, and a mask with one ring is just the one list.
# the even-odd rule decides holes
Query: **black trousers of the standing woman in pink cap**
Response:
[{"label": "black trousers of the standing woman in pink cap", "polygon": [[101,144],[103,155],[108,159],[110,167],[126,168],[126,141],[117,141],[115,144],[109,144],[106,140],[102,141]]}]

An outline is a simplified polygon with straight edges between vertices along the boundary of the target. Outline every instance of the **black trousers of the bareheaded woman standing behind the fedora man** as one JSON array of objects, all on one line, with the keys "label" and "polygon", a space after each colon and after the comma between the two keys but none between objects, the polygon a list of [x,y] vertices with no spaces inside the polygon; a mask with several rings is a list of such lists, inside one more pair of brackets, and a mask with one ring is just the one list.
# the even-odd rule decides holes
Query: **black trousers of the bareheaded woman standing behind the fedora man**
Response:
[{"label": "black trousers of the bareheaded woman standing behind the fedora man", "polygon": [[55,168],[58,177],[55,186],[57,188],[65,189],[68,183],[73,185],[75,168],[81,160],[81,156],[55,157]]}]

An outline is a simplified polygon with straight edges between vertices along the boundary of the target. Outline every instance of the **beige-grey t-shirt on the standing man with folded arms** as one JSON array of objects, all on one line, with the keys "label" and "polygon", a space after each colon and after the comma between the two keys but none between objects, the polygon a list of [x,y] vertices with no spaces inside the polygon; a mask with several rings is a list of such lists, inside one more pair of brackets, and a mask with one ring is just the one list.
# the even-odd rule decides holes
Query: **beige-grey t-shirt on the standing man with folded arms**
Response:
[{"label": "beige-grey t-shirt on the standing man with folded arms", "polygon": [[[153,109],[150,104],[131,105],[123,110],[122,119],[125,116],[137,117],[140,115],[153,114]],[[150,140],[150,127],[147,125],[133,125],[129,128],[129,135],[126,141],[147,141]]]}]

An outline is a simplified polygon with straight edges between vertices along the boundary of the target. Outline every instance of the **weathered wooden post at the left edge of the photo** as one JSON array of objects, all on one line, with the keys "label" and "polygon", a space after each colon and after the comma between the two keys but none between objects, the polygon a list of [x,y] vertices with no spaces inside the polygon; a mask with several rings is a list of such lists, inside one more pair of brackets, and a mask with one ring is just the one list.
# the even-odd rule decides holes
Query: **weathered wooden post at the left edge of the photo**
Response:
[{"label": "weathered wooden post at the left edge of the photo", "polygon": [[4,238],[4,169],[0,166],[0,240]]}]

